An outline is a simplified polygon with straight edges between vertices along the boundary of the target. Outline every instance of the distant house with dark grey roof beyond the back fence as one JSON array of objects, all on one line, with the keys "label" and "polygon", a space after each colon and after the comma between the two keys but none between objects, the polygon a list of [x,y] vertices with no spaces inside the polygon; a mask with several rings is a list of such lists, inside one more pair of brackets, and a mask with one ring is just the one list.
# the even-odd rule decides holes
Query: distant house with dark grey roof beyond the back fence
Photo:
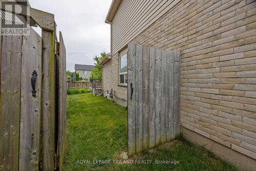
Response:
[{"label": "distant house with dark grey roof beyond the back fence", "polygon": [[79,77],[82,77],[82,79],[90,79],[94,67],[95,66],[75,64],[75,74],[73,75],[74,79],[76,78],[76,74],[79,74]]}]

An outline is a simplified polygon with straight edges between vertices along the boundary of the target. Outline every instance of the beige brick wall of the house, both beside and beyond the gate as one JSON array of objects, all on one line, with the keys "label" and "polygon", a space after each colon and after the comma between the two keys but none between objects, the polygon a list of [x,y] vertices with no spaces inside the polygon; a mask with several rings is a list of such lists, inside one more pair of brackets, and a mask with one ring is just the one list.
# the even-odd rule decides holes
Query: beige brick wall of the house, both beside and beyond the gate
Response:
[{"label": "beige brick wall of the house, both beside and beyond the gate", "polygon": [[[181,125],[253,159],[255,14],[252,0],[182,0],[132,41],[180,51]],[[117,87],[118,53],[103,71],[104,90],[114,87],[126,99],[126,88]]]}]

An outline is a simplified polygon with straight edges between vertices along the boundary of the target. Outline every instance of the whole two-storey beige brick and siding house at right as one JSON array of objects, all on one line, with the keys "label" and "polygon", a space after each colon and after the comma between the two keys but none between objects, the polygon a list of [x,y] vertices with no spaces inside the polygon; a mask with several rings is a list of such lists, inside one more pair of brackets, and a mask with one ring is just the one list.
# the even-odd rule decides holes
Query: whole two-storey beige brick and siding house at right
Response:
[{"label": "whole two-storey beige brick and siding house at right", "polygon": [[178,51],[181,132],[256,170],[255,14],[254,0],[113,0],[103,95],[127,106],[129,42]]}]

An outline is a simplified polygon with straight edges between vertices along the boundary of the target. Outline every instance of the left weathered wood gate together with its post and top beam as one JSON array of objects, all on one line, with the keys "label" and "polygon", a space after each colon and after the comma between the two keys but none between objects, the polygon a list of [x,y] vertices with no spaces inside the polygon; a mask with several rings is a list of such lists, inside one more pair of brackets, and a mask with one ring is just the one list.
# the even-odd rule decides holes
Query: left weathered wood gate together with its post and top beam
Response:
[{"label": "left weathered wood gate together with its post and top beam", "polygon": [[31,27],[27,36],[0,36],[0,170],[61,170],[66,49],[54,15],[30,12],[41,36]]}]

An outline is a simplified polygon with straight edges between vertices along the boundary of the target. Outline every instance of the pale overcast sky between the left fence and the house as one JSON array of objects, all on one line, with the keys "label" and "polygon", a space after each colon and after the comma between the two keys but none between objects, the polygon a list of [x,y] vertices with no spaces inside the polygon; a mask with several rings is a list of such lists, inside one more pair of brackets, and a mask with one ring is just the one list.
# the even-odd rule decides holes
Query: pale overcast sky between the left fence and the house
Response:
[{"label": "pale overcast sky between the left fence and the house", "polygon": [[110,52],[110,25],[104,21],[112,0],[29,2],[32,8],[55,15],[67,49],[67,70],[74,71],[75,63],[94,65],[94,56]]}]

